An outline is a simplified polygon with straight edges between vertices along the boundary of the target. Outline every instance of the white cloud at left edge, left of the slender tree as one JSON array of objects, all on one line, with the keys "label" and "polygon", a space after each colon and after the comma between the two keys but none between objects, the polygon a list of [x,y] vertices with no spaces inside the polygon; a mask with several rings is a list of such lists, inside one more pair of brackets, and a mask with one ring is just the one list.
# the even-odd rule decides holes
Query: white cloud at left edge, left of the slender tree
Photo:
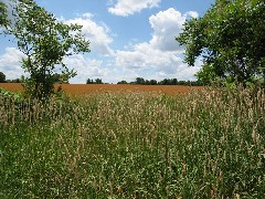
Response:
[{"label": "white cloud at left edge, left of the slender tree", "polygon": [[25,57],[24,54],[15,48],[7,48],[4,54],[0,55],[0,71],[7,80],[20,78],[24,74],[22,57]]}]

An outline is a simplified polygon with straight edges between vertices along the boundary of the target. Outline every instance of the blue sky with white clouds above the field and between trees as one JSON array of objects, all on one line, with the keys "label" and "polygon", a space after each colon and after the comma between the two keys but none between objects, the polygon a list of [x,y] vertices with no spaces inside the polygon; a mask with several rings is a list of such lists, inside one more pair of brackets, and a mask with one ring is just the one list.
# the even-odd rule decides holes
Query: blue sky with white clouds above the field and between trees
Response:
[{"label": "blue sky with white clouds above the field and between trees", "polygon": [[[0,0],[8,2],[8,0]],[[35,0],[64,23],[83,25],[89,53],[64,59],[77,75],[70,83],[87,78],[104,83],[131,82],[136,77],[195,80],[201,69],[183,63],[184,48],[176,41],[187,19],[202,17],[214,0]],[[7,80],[24,74],[23,54],[0,35],[0,71]]]}]

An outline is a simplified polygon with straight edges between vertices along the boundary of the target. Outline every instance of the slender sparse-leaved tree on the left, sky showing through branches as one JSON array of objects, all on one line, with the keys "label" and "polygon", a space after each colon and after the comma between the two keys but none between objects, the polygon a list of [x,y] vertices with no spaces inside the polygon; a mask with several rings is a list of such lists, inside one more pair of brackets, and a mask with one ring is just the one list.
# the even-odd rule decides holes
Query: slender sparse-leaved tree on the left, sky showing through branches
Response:
[{"label": "slender sparse-leaved tree on the left, sky showing through branches", "polygon": [[36,98],[47,98],[54,91],[54,70],[61,65],[64,81],[76,75],[68,70],[63,59],[80,52],[89,52],[89,42],[81,34],[82,25],[64,24],[39,7],[33,0],[15,0],[13,22],[6,25],[6,33],[18,41],[25,54],[22,67],[30,73],[24,78],[24,88]]}]

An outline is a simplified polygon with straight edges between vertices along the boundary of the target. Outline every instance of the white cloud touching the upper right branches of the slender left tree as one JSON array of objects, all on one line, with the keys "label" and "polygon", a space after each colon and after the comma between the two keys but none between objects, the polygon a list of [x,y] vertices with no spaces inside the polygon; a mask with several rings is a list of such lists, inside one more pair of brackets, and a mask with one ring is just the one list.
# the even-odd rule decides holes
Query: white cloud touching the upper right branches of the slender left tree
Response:
[{"label": "white cloud touching the upper right branches of the slender left tree", "polygon": [[84,13],[81,18],[75,18],[71,20],[62,20],[64,23],[77,23],[83,25],[82,33],[91,42],[91,51],[96,54],[112,55],[114,52],[110,49],[110,43],[113,39],[108,35],[110,29],[102,22],[97,24],[93,21],[93,14]]}]

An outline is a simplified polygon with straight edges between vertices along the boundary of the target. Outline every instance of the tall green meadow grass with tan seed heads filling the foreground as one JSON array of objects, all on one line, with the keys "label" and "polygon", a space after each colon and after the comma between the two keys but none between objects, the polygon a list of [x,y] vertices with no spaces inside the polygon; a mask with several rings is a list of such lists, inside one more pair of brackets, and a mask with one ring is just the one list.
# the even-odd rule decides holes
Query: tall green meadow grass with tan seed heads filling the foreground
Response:
[{"label": "tall green meadow grass with tan seed heads filling the foreground", "polygon": [[0,198],[264,198],[265,93],[0,96]]}]

